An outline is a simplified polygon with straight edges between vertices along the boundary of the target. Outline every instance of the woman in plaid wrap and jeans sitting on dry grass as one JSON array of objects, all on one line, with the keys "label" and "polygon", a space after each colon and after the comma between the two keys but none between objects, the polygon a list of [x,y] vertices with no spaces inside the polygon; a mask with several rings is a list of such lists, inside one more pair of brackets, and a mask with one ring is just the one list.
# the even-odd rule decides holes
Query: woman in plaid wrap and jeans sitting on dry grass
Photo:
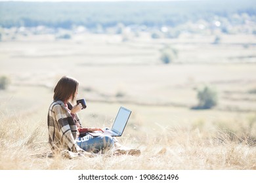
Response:
[{"label": "woman in plaid wrap and jeans sitting on dry grass", "polygon": [[77,112],[82,105],[74,105],[79,82],[63,76],[54,88],[53,103],[48,112],[49,144],[53,153],[59,152],[106,152],[114,149],[115,154],[139,155],[140,150],[121,146],[116,138],[109,135],[79,137],[79,131],[92,132],[102,130],[98,127],[83,128]]}]

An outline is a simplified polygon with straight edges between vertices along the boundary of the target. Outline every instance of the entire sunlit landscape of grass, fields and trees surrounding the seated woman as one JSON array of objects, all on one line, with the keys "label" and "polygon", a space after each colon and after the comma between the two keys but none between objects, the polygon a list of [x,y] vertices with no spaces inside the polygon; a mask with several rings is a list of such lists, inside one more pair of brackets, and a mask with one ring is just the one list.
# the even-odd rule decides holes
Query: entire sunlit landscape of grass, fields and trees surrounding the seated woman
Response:
[{"label": "entire sunlit landscape of grass, fields and trees surrounding the seated woman", "polygon": [[253,0],[0,2],[0,169],[78,169],[38,158],[63,75],[84,126],[133,111],[120,141],[142,150],[137,169],[256,169],[255,63]]}]

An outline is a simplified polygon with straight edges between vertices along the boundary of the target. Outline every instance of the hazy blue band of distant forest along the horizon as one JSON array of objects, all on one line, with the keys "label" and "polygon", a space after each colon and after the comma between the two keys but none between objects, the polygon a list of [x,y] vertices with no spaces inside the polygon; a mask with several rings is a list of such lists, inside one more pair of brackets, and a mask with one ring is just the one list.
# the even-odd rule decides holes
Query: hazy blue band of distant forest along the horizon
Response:
[{"label": "hazy blue band of distant forest along the horizon", "polygon": [[162,1],[162,2],[0,2],[1,27],[62,27],[72,29],[83,25],[95,29],[118,24],[161,27],[225,17],[232,24],[234,14],[247,14],[256,22],[256,3],[253,0],[225,1]]}]

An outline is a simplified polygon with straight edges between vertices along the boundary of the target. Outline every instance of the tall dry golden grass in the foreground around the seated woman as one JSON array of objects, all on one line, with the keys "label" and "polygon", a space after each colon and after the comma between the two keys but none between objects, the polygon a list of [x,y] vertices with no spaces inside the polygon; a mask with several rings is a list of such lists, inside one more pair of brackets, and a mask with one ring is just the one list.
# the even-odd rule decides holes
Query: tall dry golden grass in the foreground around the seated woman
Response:
[{"label": "tall dry golden grass in the foreground around the seated woman", "polygon": [[139,148],[140,156],[108,152],[95,158],[65,159],[49,156],[44,122],[31,125],[25,118],[21,125],[20,120],[1,121],[0,169],[256,169],[255,134],[243,139],[217,126],[160,126],[157,132],[147,129],[149,133],[137,136],[131,135],[134,130],[129,127],[120,141]]}]

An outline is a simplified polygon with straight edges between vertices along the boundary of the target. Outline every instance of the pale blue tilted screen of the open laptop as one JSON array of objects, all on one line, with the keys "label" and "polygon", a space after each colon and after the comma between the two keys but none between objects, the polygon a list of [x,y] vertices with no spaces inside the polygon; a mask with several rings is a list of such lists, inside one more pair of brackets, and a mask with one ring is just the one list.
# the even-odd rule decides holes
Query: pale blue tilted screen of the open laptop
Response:
[{"label": "pale blue tilted screen of the open laptop", "polygon": [[131,110],[120,107],[116,116],[116,120],[112,126],[112,131],[116,132],[118,135],[122,135],[123,129],[125,129],[125,125],[129,119],[131,114]]}]

